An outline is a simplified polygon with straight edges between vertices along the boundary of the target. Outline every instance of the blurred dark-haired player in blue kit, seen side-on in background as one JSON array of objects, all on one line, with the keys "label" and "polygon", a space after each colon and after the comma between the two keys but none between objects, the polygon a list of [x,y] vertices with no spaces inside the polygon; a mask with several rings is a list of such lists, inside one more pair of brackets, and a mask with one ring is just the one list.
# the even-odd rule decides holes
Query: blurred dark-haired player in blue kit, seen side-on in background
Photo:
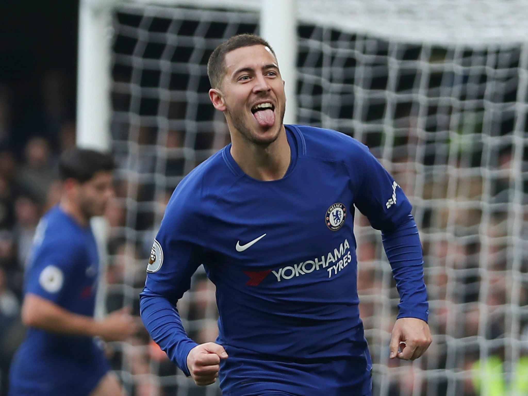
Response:
[{"label": "blurred dark-haired player in blue kit, seen side-on in background", "polygon": [[93,318],[99,257],[89,224],[112,195],[114,163],[108,154],[71,149],[59,168],[61,200],[41,219],[26,269],[22,320],[29,328],[11,366],[9,394],[121,395],[93,337],[125,340],[136,324],[126,309]]}]

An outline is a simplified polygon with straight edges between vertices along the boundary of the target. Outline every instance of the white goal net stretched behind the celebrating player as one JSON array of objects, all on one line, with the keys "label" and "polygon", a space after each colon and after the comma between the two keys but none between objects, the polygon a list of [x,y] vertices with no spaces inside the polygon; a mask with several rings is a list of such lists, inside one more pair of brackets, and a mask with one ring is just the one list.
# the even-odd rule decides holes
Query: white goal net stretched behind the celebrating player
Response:
[{"label": "white goal net stretched behind the celebrating player", "polygon": [[[254,2],[115,7],[111,138],[119,171],[109,211],[109,310],[137,308],[170,194],[229,142],[209,101],[206,62],[228,37],[259,32],[258,10],[244,3]],[[528,5],[304,0],[298,7],[299,124],[369,146],[409,196],[423,244],[434,341],[418,361],[391,361],[399,298],[378,232],[356,218],[373,394],[527,394]],[[194,340],[214,340],[214,287],[203,271],[178,308]],[[220,394],[185,378],[147,334],[112,350],[132,394]]]}]

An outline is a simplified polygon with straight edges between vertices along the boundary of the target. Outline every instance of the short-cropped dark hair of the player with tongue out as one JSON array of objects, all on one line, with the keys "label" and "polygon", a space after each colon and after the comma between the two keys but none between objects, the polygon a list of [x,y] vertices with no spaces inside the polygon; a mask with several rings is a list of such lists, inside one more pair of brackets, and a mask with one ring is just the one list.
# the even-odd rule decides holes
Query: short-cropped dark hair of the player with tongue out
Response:
[{"label": "short-cropped dark hair of the player with tongue out", "polygon": [[[239,34],[231,37],[231,39],[224,41],[216,47],[209,57],[207,62],[207,75],[211,87],[219,88],[225,76],[225,54],[242,47],[250,47],[253,45],[267,46],[275,56],[275,51],[271,48],[269,43],[262,39],[262,37],[254,34]],[[277,58],[277,56],[275,56]]]}]

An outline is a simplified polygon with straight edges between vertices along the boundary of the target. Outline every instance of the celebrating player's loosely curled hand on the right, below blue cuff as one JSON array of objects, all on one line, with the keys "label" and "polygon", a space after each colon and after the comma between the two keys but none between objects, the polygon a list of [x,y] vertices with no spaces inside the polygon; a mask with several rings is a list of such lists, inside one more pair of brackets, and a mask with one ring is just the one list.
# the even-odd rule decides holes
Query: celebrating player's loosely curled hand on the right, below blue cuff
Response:
[{"label": "celebrating player's loosely curled hand on the right, below blue cuff", "polygon": [[[391,359],[418,359],[432,342],[431,331],[427,322],[418,318],[400,318],[392,329],[390,343]],[[401,351],[398,351],[400,348]]]}]

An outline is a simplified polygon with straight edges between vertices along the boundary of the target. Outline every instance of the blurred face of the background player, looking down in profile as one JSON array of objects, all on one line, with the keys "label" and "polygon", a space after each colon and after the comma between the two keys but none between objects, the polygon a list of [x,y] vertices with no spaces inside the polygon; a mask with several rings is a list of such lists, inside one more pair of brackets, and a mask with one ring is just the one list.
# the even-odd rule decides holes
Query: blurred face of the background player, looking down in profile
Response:
[{"label": "blurred face of the background player, looking down in profile", "polygon": [[112,195],[114,195],[112,173],[97,172],[87,182],[79,184],[79,209],[88,219],[92,216],[101,216],[105,213],[106,205]]}]

